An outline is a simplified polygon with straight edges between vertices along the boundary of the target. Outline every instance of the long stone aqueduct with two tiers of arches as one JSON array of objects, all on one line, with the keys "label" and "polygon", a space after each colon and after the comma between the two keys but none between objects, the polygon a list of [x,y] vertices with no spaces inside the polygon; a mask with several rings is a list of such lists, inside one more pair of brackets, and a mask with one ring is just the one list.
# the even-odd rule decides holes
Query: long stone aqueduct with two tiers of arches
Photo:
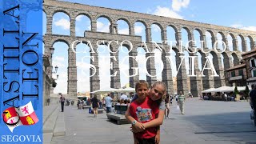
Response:
[{"label": "long stone aqueduct with two tiers of arches", "polygon": [[[190,89],[193,95],[198,95],[201,91],[206,90],[212,87],[226,86],[228,83],[225,82],[225,74],[224,70],[236,66],[239,63],[239,59],[241,58],[241,53],[247,50],[252,50],[256,44],[256,34],[255,32],[249,30],[238,30],[225,26],[215,26],[200,22],[190,22],[182,19],[175,18],[165,18],[160,16],[154,16],[150,14],[140,14],[125,10],[114,10],[109,8],[97,7],[97,6],[87,6],[78,3],[70,3],[70,2],[59,2],[53,0],[45,0],[43,4],[43,10],[46,14],[46,34],[44,35],[44,44],[45,44],[45,54],[50,55],[50,49],[54,46],[55,42],[65,42],[68,49],[68,67],[67,67],[67,75],[68,75],[68,84],[67,84],[67,93],[70,95],[77,94],[77,66],[76,66],[76,54],[71,49],[72,42],[79,40],[82,42],[90,41],[92,46],[96,49],[96,42],[99,40],[104,40],[107,42],[110,41],[119,41],[122,42],[124,40],[132,42],[134,46],[133,50],[130,51],[130,56],[136,56],[137,50],[136,47],[142,46],[142,37],[135,35],[134,32],[134,23],[141,22],[145,26],[146,33],[146,45],[150,51],[153,51],[152,47],[152,33],[151,33],[151,25],[157,25],[161,29],[161,38],[162,41],[168,41],[167,39],[167,27],[171,27],[175,34],[171,37],[174,37],[177,41],[177,44],[172,47],[174,52],[176,53],[176,66],[181,63],[180,56],[184,55],[182,53],[178,53],[180,49],[182,41],[182,29],[186,30],[187,39],[194,40],[194,31],[197,31],[200,34],[200,41],[204,41],[202,48],[204,50],[210,50],[210,54],[213,56],[214,68],[217,71],[219,77],[211,77],[211,70],[204,70],[205,77],[187,77],[186,74],[186,66],[185,62],[181,63],[181,68],[178,71],[177,75],[177,90],[182,91],[184,94],[188,93],[187,90],[187,78],[190,78]],[[70,18],[70,35],[60,35],[52,33],[52,25],[54,14],[62,12],[66,14]],[[87,30],[84,37],[78,37],[75,34],[75,22],[76,18],[79,15],[84,15],[87,18],[90,18],[90,30]],[[98,18],[107,18],[110,22],[110,32],[103,33],[97,31],[97,20]],[[118,20],[123,20],[129,26],[129,34],[118,34]],[[210,33],[212,46],[214,46],[214,42],[218,41],[217,35],[221,35],[221,40],[226,43],[226,50],[222,54],[217,53],[210,47],[206,46],[206,33]],[[231,37],[231,41],[228,40],[228,37]],[[238,50],[238,38],[241,38],[242,50]],[[230,47],[230,43],[232,42],[232,47]],[[126,46],[129,49],[129,45]],[[182,46],[183,47],[183,46]],[[118,45],[114,42],[111,43],[110,49],[112,51],[116,51],[118,49]],[[164,64],[164,68],[162,70],[162,81],[166,82],[166,86],[168,87],[168,92],[170,94],[174,93],[173,90],[173,78],[172,78],[172,67],[169,62],[167,62],[166,56],[170,56],[170,46],[167,44],[162,47],[162,62]],[[190,55],[201,54],[201,64],[204,66],[206,62],[206,56],[208,54],[203,53],[202,50],[195,46],[194,42],[190,42],[189,50],[194,51],[197,50],[198,53],[190,53]],[[100,89],[100,78],[98,76],[98,53],[91,53],[91,56],[94,56],[94,62],[91,61],[91,64],[96,66],[96,74],[90,77],[90,91],[99,90]],[[146,53],[146,57],[153,56],[154,53]],[[224,65],[224,70],[221,66],[221,55]],[[118,58],[118,53],[111,54],[111,56],[115,56]],[[50,59],[50,63],[52,60]],[[110,70],[110,73],[113,74],[114,71],[119,71],[118,59],[117,61],[113,61],[113,70]],[[130,70],[129,73],[132,74],[133,70],[131,67],[138,67],[138,63],[133,59],[129,59]],[[151,75],[155,75],[156,69],[154,66],[154,58],[150,58],[146,63],[146,69]],[[53,70],[53,66],[50,66],[50,71]],[[199,74],[200,70],[198,69],[198,61],[195,61],[195,74]],[[130,77],[130,86],[134,87],[134,83],[138,82],[139,76]],[[147,82],[150,84],[156,81],[156,77],[146,76]],[[202,82],[202,84],[200,84]],[[110,87],[112,88],[120,88],[120,73],[118,73],[115,77],[111,77]]]}]

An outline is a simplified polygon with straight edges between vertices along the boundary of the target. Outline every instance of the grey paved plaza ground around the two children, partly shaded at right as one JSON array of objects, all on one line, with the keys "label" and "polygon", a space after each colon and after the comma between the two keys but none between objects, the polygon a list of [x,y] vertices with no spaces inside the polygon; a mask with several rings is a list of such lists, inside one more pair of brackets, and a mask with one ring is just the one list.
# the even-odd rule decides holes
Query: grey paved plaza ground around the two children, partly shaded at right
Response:
[{"label": "grey paved plaza ground around the two children, partly shaded at right", "polygon": [[[60,106],[60,105],[59,105]],[[250,121],[249,102],[213,102],[187,99],[185,115],[171,106],[171,119],[161,126],[161,144],[256,143],[256,127]],[[52,138],[53,144],[133,143],[130,124],[117,125],[106,113],[88,114],[65,106],[66,135]]]}]

